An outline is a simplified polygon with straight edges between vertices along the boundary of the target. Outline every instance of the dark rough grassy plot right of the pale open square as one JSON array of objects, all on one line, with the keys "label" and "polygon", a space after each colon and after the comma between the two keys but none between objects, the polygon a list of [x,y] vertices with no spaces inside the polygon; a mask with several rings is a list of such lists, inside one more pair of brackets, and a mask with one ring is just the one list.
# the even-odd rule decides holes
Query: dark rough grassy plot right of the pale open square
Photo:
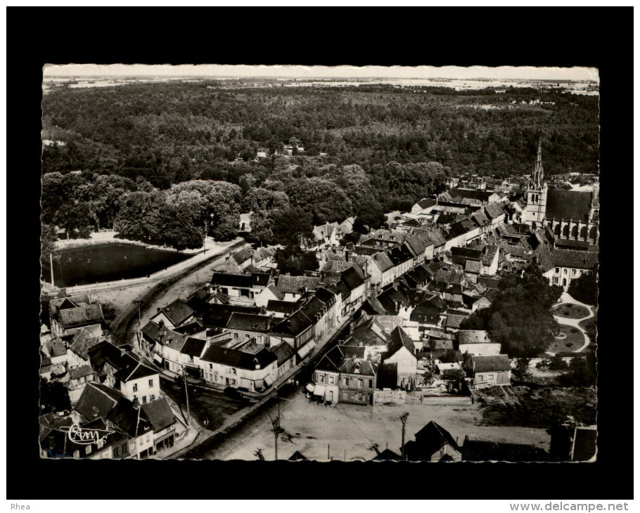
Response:
[{"label": "dark rough grassy plot right of the pale open square", "polygon": [[530,384],[511,387],[512,394],[508,396],[496,389],[478,394],[482,425],[548,428],[564,422],[568,415],[587,424],[596,420],[596,391],[591,387]]}]

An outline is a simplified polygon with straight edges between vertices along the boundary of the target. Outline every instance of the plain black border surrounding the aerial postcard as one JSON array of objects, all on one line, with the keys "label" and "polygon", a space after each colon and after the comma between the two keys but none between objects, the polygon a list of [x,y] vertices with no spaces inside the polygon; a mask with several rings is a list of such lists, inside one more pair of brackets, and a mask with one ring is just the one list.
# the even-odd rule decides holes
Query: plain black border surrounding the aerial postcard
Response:
[{"label": "plain black border surrounding the aerial postcard", "polygon": [[[613,190],[616,186],[630,190],[632,8],[311,9],[7,8],[7,41],[13,41],[7,78],[7,190],[9,203],[19,207],[7,209],[13,221],[8,223],[8,241],[20,241],[9,246],[13,251],[8,268],[19,268],[20,273],[12,271],[11,276],[23,278],[20,287],[17,280],[8,286],[12,312],[7,316],[6,339],[7,497],[632,498],[632,367],[625,372],[620,365],[623,354],[625,361],[627,355],[632,358],[632,343],[625,340],[615,351],[613,344],[607,344],[614,342],[613,337],[599,348],[599,459],[594,464],[355,463],[345,467],[340,462],[105,461],[83,462],[87,465],[84,480],[76,462],[39,459],[34,442],[37,422],[32,420],[37,417],[37,379],[30,371],[37,368],[38,359],[29,342],[37,336],[33,330],[38,325],[38,283],[27,277],[39,265],[39,244],[33,234],[39,233],[39,101],[44,63],[598,67],[604,127],[601,167],[605,169],[601,247],[612,248],[614,239],[619,244],[629,240],[630,230],[622,238],[616,226],[632,227],[628,221],[632,202],[626,196],[613,198]],[[27,41],[24,46],[23,41]],[[610,220],[613,212],[617,222]],[[627,269],[629,264],[620,259],[614,262],[611,250],[607,251],[601,253],[599,324],[606,326],[603,332],[608,334],[620,321],[614,317],[613,301],[607,299],[615,298],[620,304],[620,293],[632,287],[616,280],[613,273],[617,264],[626,264]],[[622,254],[631,256],[632,250]],[[621,338],[615,337],[615,342]],[[615,416],[610,415],[613,412]],[[314,486],[314,476],[321,476],[326,485]]]}]

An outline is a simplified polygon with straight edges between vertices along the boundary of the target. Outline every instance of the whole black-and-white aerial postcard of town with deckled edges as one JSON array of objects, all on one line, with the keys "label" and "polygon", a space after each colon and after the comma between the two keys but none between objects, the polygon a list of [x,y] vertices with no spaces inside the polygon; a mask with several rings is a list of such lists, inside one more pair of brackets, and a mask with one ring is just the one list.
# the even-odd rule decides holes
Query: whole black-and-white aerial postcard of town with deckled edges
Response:
[{"label": "whole black-and-white aerial postcard of town with deckled edges", "polygon": [[599,86],[47,65],[40,457],[595,462]]}]

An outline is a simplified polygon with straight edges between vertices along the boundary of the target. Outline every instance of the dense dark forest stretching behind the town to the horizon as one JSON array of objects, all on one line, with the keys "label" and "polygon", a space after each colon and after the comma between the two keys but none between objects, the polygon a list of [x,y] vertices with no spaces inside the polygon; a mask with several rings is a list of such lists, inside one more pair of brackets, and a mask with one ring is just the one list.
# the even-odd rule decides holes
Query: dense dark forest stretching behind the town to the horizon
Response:
[{"label": "dense dark forest stretching behind the town to the horizon", "polygon": [[264,243],[378,226],[450,174],[529,173],[540,134],[546,173],[598,169],[598,97],[559,90],[127,84],[56,89],[42,110],[43,222],[71,237],[197,247],[249,210]]}]

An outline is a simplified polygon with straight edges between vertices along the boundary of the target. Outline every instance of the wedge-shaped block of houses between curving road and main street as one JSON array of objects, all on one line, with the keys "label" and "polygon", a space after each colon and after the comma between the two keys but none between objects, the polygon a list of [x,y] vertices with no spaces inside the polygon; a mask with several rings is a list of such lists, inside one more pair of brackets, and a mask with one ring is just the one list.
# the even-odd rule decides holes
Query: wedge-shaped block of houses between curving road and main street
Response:
[{"label": "wedge-shaped block of houses between curving road and main street", "polygon": [[361,270],[320,275],[215,272],[139,332],[139,349],[169,375],[260,393],[324,344],[362,301]]}]

